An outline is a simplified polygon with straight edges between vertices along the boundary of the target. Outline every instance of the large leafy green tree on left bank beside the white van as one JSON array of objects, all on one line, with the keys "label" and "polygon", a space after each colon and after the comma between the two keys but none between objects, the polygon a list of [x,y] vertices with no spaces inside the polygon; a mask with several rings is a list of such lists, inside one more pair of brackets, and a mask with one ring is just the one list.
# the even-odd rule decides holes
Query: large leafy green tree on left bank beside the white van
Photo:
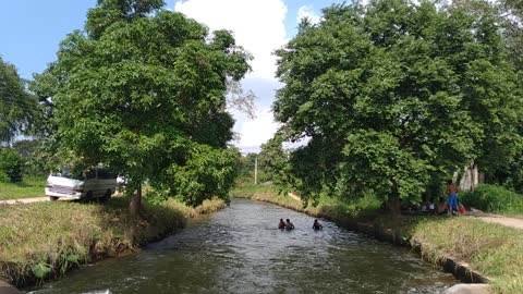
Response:
[{"label": "large leafy green tree on left bank beside the white van", "polygon": [[133,210],[145,180],[197,205],[226,197],[235,172],[226,93],[228,81],[248,71],[250,56],[231,33],[209,35],[162,7],[99,0],[85,30],[61,42],[58,60],[34,85],[52,103],[62,157],[124,173],[138,192]]}]

